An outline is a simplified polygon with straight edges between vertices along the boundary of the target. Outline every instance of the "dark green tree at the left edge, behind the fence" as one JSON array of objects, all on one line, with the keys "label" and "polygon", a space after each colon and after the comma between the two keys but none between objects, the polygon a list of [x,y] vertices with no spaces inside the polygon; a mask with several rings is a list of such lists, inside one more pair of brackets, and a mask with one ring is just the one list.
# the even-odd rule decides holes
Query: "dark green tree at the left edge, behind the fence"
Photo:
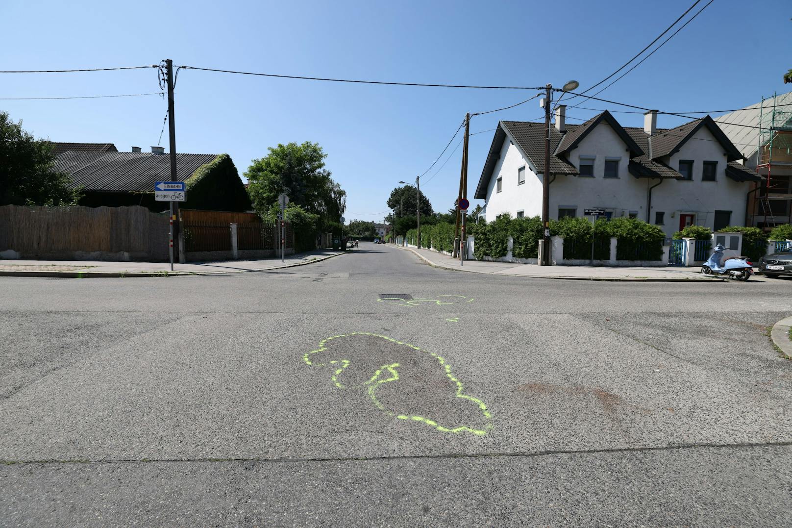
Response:
[{"label": "dark green tree at the left edge, behind the fence", "polygon": [[36,140],[0,112],[0,205],[76,205],[68,174],[55,172],[51,143]]}]

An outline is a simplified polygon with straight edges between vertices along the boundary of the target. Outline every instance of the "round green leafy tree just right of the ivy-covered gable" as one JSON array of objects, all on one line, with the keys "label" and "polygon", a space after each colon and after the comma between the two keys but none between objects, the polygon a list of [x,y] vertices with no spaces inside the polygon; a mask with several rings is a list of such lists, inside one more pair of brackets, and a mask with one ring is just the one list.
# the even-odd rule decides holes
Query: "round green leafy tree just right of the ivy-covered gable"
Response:
[{"label": "round green leafy tree just right of the ivy-covered gable", "polygon": [[318,216],[318,228],[338,222],[346,209],[346,192],[325,168],[327,155],[318,143],[278,144],[254,159],[245,171],[253,208],[267,212],[286,193],[289,201]]}]

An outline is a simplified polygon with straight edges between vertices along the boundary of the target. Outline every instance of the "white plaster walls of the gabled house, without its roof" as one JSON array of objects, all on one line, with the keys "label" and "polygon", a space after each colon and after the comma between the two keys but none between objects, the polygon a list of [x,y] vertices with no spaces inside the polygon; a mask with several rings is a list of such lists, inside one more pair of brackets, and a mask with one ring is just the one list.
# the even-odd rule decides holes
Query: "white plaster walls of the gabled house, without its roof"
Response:
[{"label": "white plaster walls of the gabled house, without its roof", "polygon": [[[645,132],[641,132],[645,133]],[[658,224],[670,237],[689,222],[713,229],[715,212],[724,227],[726,224],[744,225],[748,182],[735,182],[725,175],[725,148],[706,128],[683,143],[680,151],[658,159],[673,170],[680,160],[692,160],[691,180],[675,178],[635,178],[628,170],[630,151],[626,143],[607,121],[592,128],[577,147],[569,151],[570,163],[580,169],[581,159],[593,161],[593,176],[558,175],[550,181],[550,218],[559,215],[583,216],[584,209],[605,209],[608,216],[633,216]],[[605,177],[606,161],[616,162],[615,178]],[[703,162],[717,162],[715,181],[703,181]],[[518,183],[518,170],[525,166],[525,182]],[[501,192],[497,182],[501,179]],[[658,186],[657,183],[661,182]],[[651,205],[649,205],[649,187]],[[542,213],[542,175],[515,144],[506,136],[500,159],[495,163],[486,191],[485,213],[482,217],[494,220],[508,212],[512,218],[540,216]],[[649,208],[649,209],[647,209]],[[662,212],[661,218],[657,212]],[[728,213],[727,213],[728,212]]]}]

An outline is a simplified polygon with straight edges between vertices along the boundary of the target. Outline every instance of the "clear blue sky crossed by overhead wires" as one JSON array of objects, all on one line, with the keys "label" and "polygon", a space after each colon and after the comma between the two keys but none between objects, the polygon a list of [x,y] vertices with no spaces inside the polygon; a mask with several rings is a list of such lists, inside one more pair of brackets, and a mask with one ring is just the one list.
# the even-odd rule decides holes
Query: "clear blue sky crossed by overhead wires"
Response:
[{"label": "clear blue sky crossed by overhead wires", "polygon": [[[170,58],[177,65],[406,82],[561,86],[575,78],[583,90],[649,44],[692,2],[5,0],[0,70],[135,66]],[[790,17],[788,0],[715,0],[600,97],[676,112],[741,108],[774,90],[789,91],[782,74],[792,67]],[[0,75],[0,98],[157,92],[156,77],[153,69]],[[318,142],[348,193],[345,216],[365,220],[383,219],[371,213],[386,211],[399,180],[413,181],[432,164],[466,112],[534,94],[189,70],[181,71],[176,92],[177,151],[227,152],[242,174],[268,146]],[[606,107],[597,101],[584,106]],[[36,136],[147,150],[158,142],[166,101],[0,101],[0,109]],[[569,117],[595,113],[574,109]],[[475,117],[470,128],[542,115],[531,101]],[[642,125],[640,115],[615,115],[625,126]],[[680,121],[661,116],[658,126]],[[469,197],[492,137],[487,132],[470,140]],[[436,169],[423,180],[421,190],[436,210],[448,209],[456,197],[461,150],[431,181]]]}]

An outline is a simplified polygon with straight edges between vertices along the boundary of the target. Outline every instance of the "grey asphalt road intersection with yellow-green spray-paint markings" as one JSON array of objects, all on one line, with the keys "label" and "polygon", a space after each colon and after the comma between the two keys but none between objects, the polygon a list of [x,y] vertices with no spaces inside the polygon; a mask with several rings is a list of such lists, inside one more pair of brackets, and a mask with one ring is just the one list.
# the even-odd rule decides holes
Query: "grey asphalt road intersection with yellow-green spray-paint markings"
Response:
[{"label": "grey asphalt road intersection with yellow-green spray-paint markings", "polygon": [[767,337],[792,281],[500,277],[364,243],[0,295],[0,526],[792,524]]}]

